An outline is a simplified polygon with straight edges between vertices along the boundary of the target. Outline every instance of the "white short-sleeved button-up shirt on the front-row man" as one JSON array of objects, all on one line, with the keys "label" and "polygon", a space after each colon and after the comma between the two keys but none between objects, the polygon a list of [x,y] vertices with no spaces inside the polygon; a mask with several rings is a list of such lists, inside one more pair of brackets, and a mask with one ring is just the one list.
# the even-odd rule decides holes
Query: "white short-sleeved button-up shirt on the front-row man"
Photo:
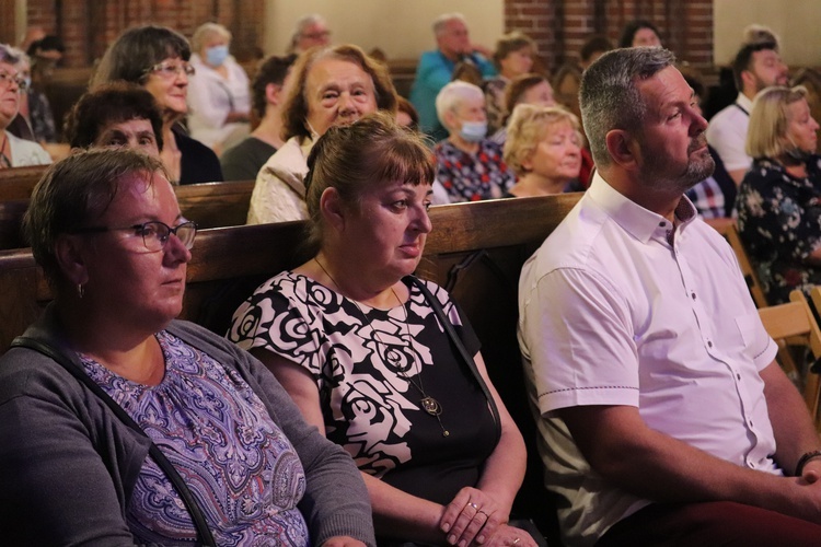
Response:
[{"label": "white short-sleeved button-up shirt on the front-row man", "polygon": [[677,226],[597,175],[525,263],[519,341],[542,419],[548,487],[574,545],[650,503],[592,472],[553,412],[627,405],[654,430],[722,459],[780,473],[759,372],[777,351],[736,256],[682,198]]}]

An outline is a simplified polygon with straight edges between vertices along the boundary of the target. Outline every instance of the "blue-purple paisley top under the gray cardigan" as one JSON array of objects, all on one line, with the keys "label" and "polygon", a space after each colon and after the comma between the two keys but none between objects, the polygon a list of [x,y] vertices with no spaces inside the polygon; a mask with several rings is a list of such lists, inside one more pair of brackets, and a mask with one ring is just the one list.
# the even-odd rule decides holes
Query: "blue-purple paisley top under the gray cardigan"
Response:
[{"label": "blue-purple paisley top under the gray cardigan", "polygon": [[[88,356],[85,372],[139,423],[189,486],[220,546],[307,546],[297,503],[305,476],[293,446],[239,375],[161,331],[165,376],[128,381]],[[196,529],[165,474],[146,458],[126,515],[147,543],[192,545]]]}]

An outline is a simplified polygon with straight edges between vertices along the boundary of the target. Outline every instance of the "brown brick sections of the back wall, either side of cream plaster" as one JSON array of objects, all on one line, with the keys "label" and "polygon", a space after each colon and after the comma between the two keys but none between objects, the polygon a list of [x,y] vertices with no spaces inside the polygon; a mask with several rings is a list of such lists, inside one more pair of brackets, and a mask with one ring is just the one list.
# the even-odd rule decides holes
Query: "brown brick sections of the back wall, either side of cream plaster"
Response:
[{"label": "brown brick sections of the back wall, either side of cream plaster", "polygon": [[[648,19],[662,42],[698,68],[713,63],[714,0],[506,0],[506,31],[522,31],[536,40],[543,66],[553,72],[574,60],[593,33],[618,40],[632,19]],[[186,36],[206,21],[234,35],[232,53],[252,58],[263,45],[265,0],[28,0],[30,25],[43,26],[66,42],[63,66],[88,67],[125,28],[148,22]]]}]

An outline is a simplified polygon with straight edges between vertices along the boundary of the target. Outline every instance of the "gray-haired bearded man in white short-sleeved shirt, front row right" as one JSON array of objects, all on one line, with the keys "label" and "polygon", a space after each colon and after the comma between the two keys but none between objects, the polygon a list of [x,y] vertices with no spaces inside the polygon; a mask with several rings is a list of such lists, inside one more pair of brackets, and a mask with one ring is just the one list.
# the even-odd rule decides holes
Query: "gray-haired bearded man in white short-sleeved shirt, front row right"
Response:
[{"label": "gray-haired bearded man in white short-sleeved shirt, front row right", "polygon": [[683,197],[714,162],[673,62],[618,49],[585,72],[598,174],[522,269],[545,481],[568,545],[812,544],[821,441],[732,251]]}]

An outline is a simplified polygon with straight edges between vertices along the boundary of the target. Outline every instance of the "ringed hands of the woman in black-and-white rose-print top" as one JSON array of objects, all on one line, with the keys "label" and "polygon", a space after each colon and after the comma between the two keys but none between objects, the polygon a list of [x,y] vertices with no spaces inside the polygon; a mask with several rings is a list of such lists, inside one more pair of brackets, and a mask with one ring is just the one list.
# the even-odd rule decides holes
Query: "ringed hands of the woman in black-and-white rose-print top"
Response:
[{"label": "ringed hands of the woman in black-and-white rose-print top", "polygon": [[439,527],[448,535],[450,545],[464,547],[471,543],[483,544],[506,522],[508,514],[493,498],[482,490],[465,487],[444,508]]}]

